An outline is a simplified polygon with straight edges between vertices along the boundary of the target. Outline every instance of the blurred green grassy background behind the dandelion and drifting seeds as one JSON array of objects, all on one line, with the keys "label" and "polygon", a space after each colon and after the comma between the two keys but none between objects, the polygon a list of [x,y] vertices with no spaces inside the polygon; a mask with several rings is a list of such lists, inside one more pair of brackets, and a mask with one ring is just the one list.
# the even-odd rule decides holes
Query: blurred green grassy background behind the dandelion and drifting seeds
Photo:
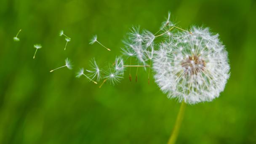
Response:
[{"label": "blurred green grassy background behind the dandelion and drifting seeds", "polygon": [[[219,98],[187,106],[177,144],[256,143],[255,0],[0,0],[0,144],[165,144],[180,104],[146,72],[100,89],[75,72],[113,61],[133,25],[156,32],[168,11],[219,33],[231,66]],[[112,51],[89,45],[94,34]],[[67,57],[74,69],[49,72]]]}]

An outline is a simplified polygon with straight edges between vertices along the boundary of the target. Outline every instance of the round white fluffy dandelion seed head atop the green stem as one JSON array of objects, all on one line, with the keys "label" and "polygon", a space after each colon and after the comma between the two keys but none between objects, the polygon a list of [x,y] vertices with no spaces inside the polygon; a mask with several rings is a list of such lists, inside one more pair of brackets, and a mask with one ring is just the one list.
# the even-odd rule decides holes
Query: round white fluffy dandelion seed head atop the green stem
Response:
[{"label": "round white fluffy dandelion seed head atop the green stem", "polygon": [[196,104],[219,97],[229,78],[227,51],[208,28],[179,32],[155,51],[155,81],[169,98]]}]

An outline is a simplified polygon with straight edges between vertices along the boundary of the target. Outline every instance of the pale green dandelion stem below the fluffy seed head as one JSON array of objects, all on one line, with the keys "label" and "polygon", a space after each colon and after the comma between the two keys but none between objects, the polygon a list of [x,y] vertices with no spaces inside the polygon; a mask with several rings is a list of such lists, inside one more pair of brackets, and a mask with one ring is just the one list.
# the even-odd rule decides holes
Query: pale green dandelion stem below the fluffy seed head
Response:
[{"label": "pale green dandelion stem below the fluffy seed head", "polygon": [[176,139],[179,135],[179,129],[180,129],[183,117],[184,117],[185,108],[186,108],[186,104],[183,100],[182,103],[181,103],[181,107],[179,109],[178,116],[176,118],[176,122],[175,122],[175,125],[174,125],[174,128],[173,128],[173,132],[172,132],[172,134],[169,138],[168,144],[175,144],[175,142],[176,142]]}]

